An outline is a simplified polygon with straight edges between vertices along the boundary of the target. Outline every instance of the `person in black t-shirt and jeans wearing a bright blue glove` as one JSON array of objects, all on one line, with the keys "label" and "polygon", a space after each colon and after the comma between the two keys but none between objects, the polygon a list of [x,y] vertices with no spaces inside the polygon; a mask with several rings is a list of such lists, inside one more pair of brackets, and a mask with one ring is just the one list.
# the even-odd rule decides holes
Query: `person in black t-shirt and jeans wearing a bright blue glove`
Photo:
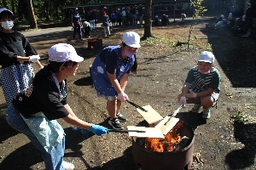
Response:
[{"label": "person in black t-shirt and jeans wearing a bright blue glove", "polygon": [[6,111],[6,119],[42,151],[46,170],[73,169],[72,163],[63,161],[65,133],[56,120],[62,118],[96,135],[108,129],[80,120],[67,104],[66,78],[75,76],[84,59],[67,43],[55,44],[48,54],[49,65],[38,71],[29,88],[17,94]]}]

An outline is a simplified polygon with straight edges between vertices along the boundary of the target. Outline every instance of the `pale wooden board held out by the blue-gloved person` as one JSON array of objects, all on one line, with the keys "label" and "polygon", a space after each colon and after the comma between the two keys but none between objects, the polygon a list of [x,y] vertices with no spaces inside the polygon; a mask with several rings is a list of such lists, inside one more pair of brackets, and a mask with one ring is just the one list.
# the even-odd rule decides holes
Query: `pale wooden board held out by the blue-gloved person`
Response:
[{"label": "pale wooden board held out by the blue-gloved person", "polygon": [[128,130],[143,130],[146,133],[135,133],[129,132],[129,136],[137,138],[160,138],[164,139],[165,136],[161,132],[160,128],[156,127],[136,127],[136,126],[127,126]]}]

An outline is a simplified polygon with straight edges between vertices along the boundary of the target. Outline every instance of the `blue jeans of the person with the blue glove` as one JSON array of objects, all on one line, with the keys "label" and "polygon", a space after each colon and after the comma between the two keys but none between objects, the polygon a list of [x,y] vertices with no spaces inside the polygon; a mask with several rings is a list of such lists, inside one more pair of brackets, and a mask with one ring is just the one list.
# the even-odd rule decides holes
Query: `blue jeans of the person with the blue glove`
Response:
[{"label": "blue jeans of the person with the blue glove", "polygon": [[61,142],[56,145],[55,149],[51,150],[49,153],[44,150],[43,145],[38,141],[37,137],[32,133],[30,128],[26,125],[26,122],[24,122],[20,116],[20,112],[16,111],[12,104],[8,106],[6,111],[6,120],[11,127],[15,128],[20,133],[24,133],[35,148],[42,151],[46,170],[65,170],[64,167],[62,167],[65,151],[65,135]]}]

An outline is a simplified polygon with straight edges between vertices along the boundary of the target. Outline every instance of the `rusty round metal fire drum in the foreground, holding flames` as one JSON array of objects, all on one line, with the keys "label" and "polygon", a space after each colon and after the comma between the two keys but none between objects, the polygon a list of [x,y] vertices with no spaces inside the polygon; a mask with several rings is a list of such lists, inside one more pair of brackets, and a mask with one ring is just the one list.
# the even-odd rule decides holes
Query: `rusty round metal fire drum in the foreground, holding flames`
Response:
[{"label": "rusty round metal fire drum in the foreground, holding flames", "polygon": [[[182,121],[181,121],[182,122]],[[193,162],[195,134],[193,129],[183,122],[177,131],[182,137],[189,137],[182,150],[157,152],[145,148],[145,139],[132,140],[132,154],[136,169],[139,170],[189,170]]]}]

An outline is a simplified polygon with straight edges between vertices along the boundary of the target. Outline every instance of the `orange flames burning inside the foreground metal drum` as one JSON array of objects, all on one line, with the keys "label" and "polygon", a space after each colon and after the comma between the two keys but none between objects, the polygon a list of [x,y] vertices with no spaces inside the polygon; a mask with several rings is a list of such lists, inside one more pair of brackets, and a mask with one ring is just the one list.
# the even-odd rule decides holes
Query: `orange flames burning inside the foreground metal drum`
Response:
[{"label": "orange flames burning inside the foreground metal drum", "polygon": [[182,140],[180,134],[177,133],[179,127],[183,127],[182,122],[177,122],[177,125],[165,135],[165,139],[146,138],[145,148],[157,152],[172,151]]}]

